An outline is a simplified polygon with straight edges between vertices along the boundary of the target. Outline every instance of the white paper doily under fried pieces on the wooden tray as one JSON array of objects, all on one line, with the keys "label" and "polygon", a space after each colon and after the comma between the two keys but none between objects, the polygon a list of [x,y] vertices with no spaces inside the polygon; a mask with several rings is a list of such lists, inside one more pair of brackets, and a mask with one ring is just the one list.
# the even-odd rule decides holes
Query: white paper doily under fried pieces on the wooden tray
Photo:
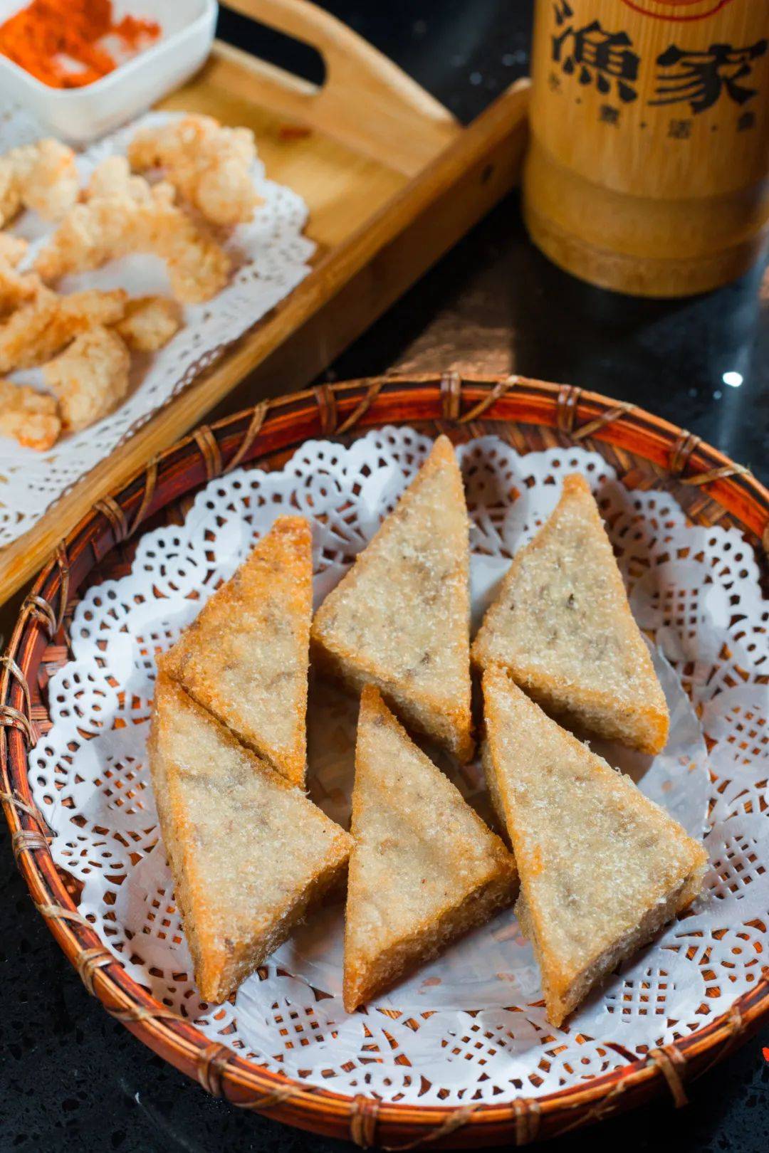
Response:
[{"label": "white paper doily under fried pieces on the wooden tray", "polygon": [[[148,113],[82,152],[77,167],[83,182],[105,157],[125,153],[138,127],[165,122],[172,115]],[[40,127],[22,110],[12,110],[0,116],[0,153],[40,135],[44,135]],[[9,437],[0,437],[0,548],[30,529],[76,481],[308,274],[308,261],[315,244],[302,235],[308,216],[304,201],[291,188],[267,180],[261,160],[255,163],[252,176],[264,203],[249,224],[239,225],[224,241],[236,271],[213,300],[183,306],[183,326],[165,348],[151,356],[131,357],[131,389],[123,404],[91,428],[65,436],[48,452],[23,449]],[[22,267],[31,264],[52,227],[31,212],[14,223],[12,231],[31,241]],[[62,292],[126,288],[134,296],[171,295],[165,264],[146,255],[123,257],[101,269],[65,277],[56,287]],[[43,376],[37,369],[13,372],[9,379],[40,387]]]}]

